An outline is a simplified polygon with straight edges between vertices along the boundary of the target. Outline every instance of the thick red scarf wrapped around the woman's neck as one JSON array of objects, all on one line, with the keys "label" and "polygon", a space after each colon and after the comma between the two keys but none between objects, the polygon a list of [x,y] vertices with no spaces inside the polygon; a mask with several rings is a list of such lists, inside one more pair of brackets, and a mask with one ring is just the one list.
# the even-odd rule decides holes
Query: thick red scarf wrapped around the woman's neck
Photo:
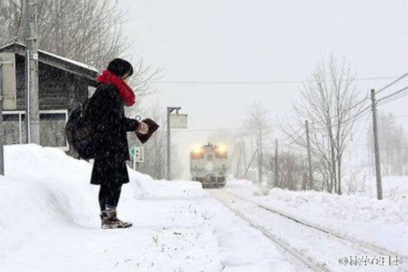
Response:
[{"label": "thick red scarf wrapped around the woman's neck", "polygon": [[114,85],[117,90],[119,90],[120,97],[122,97],[122,101],[125,106],[132,106],[135,104],[135,92],[129,87],[129,85],[127,85],[126,82],[124,82],[114,73],[105,70],[96,80],[102,84]]}]

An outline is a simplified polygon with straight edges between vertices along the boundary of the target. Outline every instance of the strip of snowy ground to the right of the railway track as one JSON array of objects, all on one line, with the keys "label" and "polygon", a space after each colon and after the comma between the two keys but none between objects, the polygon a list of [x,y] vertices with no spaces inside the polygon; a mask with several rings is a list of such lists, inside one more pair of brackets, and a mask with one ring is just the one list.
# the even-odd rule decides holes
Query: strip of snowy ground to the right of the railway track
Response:
[{"label": "strip of snowy ground to the right of the railway track", "polygon": [[[388,178],[385,181],[390,188],[394,187],[392,185],[408,185],[407,178],[405,181],[404,178]],[[269,190],[269,195],[262,196],[257,195],[259,190],[250,181],[230,181],[225,189],[314,225],[408,256],[407,195],[379,201],[367,195],[273,188]]]}]

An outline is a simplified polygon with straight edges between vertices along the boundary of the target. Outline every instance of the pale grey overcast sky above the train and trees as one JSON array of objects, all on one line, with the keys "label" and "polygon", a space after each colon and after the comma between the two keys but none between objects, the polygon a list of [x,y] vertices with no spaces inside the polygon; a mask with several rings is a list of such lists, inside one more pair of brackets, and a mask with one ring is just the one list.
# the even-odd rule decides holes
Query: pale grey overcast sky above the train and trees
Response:
[{"label": "pale grey overcast sky above the train and trees", "polygon": [[[119,2],[128,12],[124,28],[134,40],[134,58],[163,67],[161,81],[301,81],[330,54],[347,58],[357,78],[408,72],[407,0]],[[358,89],[366,93],[390,81],[360,80]],[[407,84],[404,79],[383,94]],[[272,120],[285,116],[300,86],[156,83],[160,92],[144,104],[181,106],[189,129],[232,128],[241,126],[254,101]],[[407,103],[405,96],[380,110],[408,115]],[[408,117],[398,121],[408,123]]]}]

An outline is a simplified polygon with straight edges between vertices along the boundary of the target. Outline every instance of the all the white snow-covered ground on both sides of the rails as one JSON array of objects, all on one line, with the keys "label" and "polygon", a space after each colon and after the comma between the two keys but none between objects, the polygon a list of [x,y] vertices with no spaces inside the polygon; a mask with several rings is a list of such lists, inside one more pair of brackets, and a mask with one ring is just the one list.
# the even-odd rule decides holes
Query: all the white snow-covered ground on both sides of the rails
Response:
[{"label": "all the white snow-covered ground on both sides of the rails", "polygon": [[[89,184],[90,163],[33,144],[5,146],[4,153],[5,176],[0,176],[0,271],[306,269],[211,196],[222,196],[222,190],[208,193],[193,181],[154,181],[128,168],[130,182],[123,185],[118,215],[132,221],[134,227],[102,230],[99,188]],[[386,192],[391,193],[382,201],[368,194],[338,196],[277,188],[268,196],[260,196],[254,194],[257,187],[252,182],[236,180],[229,181],[224,190],[408,255],[408,197],[392,193],[395,186],[406,188],[407,182],[403,178],[385,181],[390,181]],[[346,266],[336,263],[336,258],[362,252],[319,231],[270,215],[253,204],[228,195],[222,198],[294,249],[319,262],[327,260],[331,271],[347,271]]]}]

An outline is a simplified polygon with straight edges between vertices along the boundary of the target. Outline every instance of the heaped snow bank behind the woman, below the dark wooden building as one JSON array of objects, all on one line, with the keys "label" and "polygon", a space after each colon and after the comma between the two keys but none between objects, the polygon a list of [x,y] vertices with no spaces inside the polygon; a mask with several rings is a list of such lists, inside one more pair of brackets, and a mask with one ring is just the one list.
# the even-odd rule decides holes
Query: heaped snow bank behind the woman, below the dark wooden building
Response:
[{"label": "heaped snow bank behind the woman, below the dark wooden building", "polygon": [[[0,255],[17,246],[43,226],[67,221],[97,227],[99,186],[89,183],[92,164],[67,156],[57,148],[35,144],[4,146],[5,176],[0,176]],[[121,203],[154,196],[203,195],[197,182],[179,188],[153,181],[128,168],[131,190],[123,190]]]}]

